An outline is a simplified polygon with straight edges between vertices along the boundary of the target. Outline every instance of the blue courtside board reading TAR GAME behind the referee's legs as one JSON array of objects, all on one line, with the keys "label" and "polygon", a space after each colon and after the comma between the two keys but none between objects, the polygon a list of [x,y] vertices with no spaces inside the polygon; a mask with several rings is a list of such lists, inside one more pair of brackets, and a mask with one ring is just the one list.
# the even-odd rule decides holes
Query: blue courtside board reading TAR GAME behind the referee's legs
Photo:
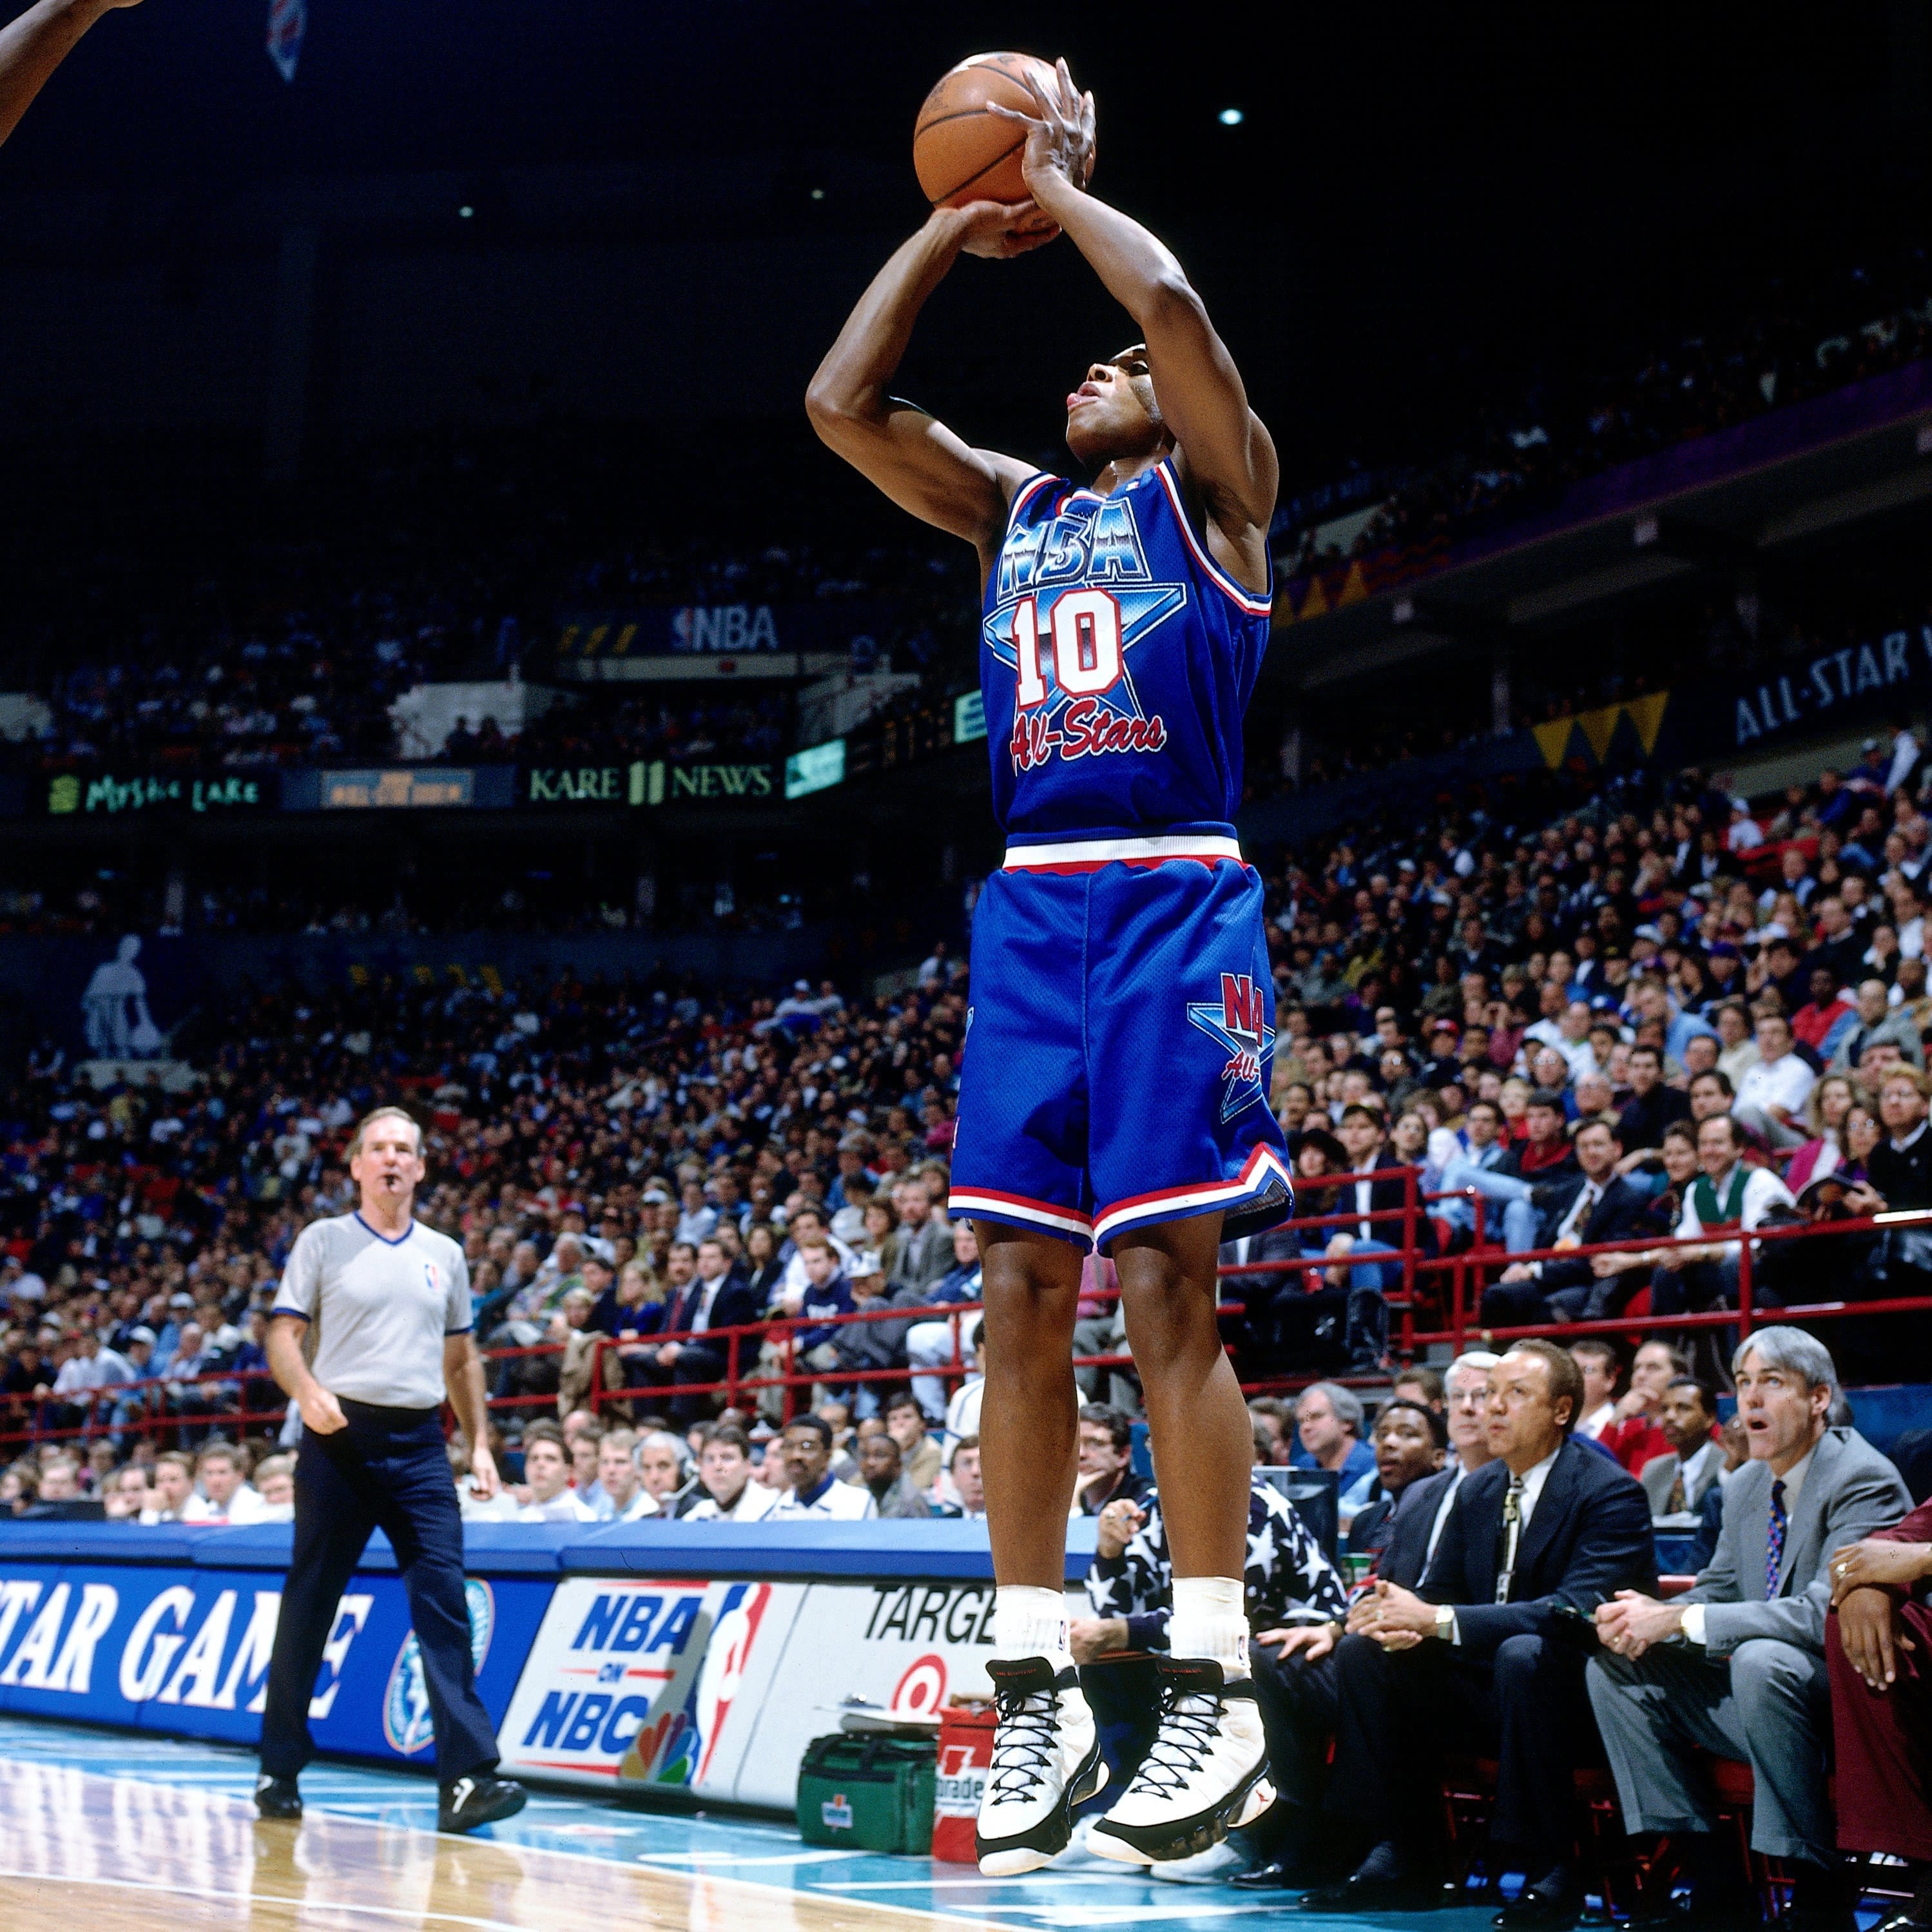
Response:
[{"label": "blue courtside board reading TAR GAME behind the referee's legs", "polygon": [[[0,1567],[0,1710],[253,1745],[282,1604],[274,1571]],[[553,1584],[469,1578],[477,1692],[500,1719]],[[309,1702],[323,1750],[427,1762],[429,1700],[400,1577],[355,1577]]]}]

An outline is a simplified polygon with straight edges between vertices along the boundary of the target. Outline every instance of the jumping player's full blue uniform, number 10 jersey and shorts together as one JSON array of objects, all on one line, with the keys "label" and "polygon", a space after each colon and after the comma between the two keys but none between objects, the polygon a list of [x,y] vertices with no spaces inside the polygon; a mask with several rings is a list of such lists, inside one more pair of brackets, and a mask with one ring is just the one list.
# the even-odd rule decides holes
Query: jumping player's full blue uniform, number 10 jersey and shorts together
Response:
[{"label": "jumping player's full blue uniform, number 10 jersey and shorts together", "polygon": [[980,632],[1007,858],[974,908],[954,1213],[1105,1248],[1293,1211],[1262,881],[1231,823],[1267,611],[1171,464],[1012,498]]}]

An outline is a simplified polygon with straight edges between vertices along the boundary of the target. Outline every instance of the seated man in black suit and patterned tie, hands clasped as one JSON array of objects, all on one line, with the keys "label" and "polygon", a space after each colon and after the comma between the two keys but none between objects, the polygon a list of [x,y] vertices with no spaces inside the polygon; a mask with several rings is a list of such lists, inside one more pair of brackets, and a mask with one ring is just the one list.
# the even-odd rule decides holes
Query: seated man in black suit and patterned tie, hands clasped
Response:
[{"label": "seated man in black suit and patterned tie, hands clasped", "polygon": [[[1650,1590],[1650,1509],[1636,1480],[1571,1439],[1582,1372],[1524,1341],[1490,1372],[1497,1461],[1464,1478],[1422,1590],[1381,1578],[1335,1650],[1341,1714],[1329,1812],[1378,1843],[1310,1911],[1428,1911],[1441,1901],[1441,1762],[1451,1739],[1499,1764],[1490,1835],[1526,1884],[1509,1932],[1569,1928],[1582,1909],[1571,1772],[1596,1745],[1584,1694],[1590,1619]],[[1633,1584],[1631,1578],[1642,1578]]]}]

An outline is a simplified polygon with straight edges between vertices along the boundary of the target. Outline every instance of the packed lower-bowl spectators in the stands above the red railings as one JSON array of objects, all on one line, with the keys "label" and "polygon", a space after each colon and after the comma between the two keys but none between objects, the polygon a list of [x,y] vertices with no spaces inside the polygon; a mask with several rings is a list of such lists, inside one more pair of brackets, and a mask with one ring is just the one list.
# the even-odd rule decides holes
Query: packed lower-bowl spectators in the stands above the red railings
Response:
[{"label": "packed lower-bowl spectators in the stands above the red railings", "polygon": [[[1932,1020],[1920,777],[1901,734],[1756,813],[1689,773],[1648,792],[1629,781],[1551,825],[1466,819],[1428,842],[1291,856],[1269,877],[1273,1101],[1300,1217],[1327,1225],[1242,1244],[1258,1269],[1231,1279],[1242,1366],[1383,1368],[1410,1200],[1426,1258],[1478,1238],[1495,1252],[1490,1325],[1735,1304],[1735,1240],[1656,1244],[1932,1208],[1932,1169],[1901,1151],[1918,1148]],[[595,1258],[589,1283],[556,1258],[583,1231],[574,1215],[607,1209],[609,1238],[630,1246],[603,1262],[636,1260],[653,1304],[682,1285],[672,1238],[707,1219],[723,1221],[732,1277],[775,1265],[738,1252],[769,1233],[796,1314],[794,1221],[813,1202],[837,1217],[827,1308],[877,1296],[854,1275],[866,1254],[889,1294],[927,1289],[954,1265],[941,1229],[956,974],[935,954],[922,989],[871,1010],[831,987],[717,1010],[668,985],[284,989],[220,1016],[216,1065],[178,1097],[95,1094],[41,1059],[6,1109],[0,1231],[29,1281],[10,1300],[17,1314],[52,1296],[35,1325],[112,1312],[102,1341],[118,1354],[135,1325],[160,1343],[166,1298],[213,1293],[220,1320],[201,1310],[199,1339],[240,1349],[292,1229],[344,1198],[348,1122],[398,1086],[433,1113],[433,1211],[475,1250],[479,1308],[502,1308],[524,1345],[551,1327],[564,1339],[572,1289],[614,1293]],[[922,1211],[896,1194],[925,1163]],[[1582,1240],[1627,1252],[1546,1252]],[[582,1244],[564,1254],[582,1260]],[[1830,1277],[1895,1296],[1928,1262],[1903,1231],[1758,1242],[1754,1293],[1799,1302]],[[753,1320],[779,1306],[767,1289]],[[1107,1308],[1099,1289],[1082,1310],[1094,1352],[1119,1345]],[[910,1370],[881,1323],[887,1341],[896,1356],[873,1366]],[[827,1331],[811,1349],[835,1343],[858,1347]],[[1841,1345],[1857,1356],[1870,1339],[1849,1323]],[[170,1358],[162,1347],[160,1368]]]}]

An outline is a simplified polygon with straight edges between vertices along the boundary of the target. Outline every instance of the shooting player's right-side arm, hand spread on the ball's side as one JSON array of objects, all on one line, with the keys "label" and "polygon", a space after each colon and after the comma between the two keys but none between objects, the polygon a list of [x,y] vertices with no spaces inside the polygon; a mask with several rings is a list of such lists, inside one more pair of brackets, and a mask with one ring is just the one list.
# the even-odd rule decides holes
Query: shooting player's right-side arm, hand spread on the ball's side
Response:
[{"label": "shooting player's right-side arm, hand spread on the ball's side", "polygon": [[1248,408],[1240,371],[1173,253],[1119,209],[1086,191],[1094,164],[1094,97],[1059,64],[1059,87],[1028,79],[1034,114],[991,104],[1028,129],[1026,185],[1072,238],[1107,292],[1140,325],[1161,415],[1190,475],[1229,537],[1242,526],[1256,545],[1275,514],[1275,444]]}]

